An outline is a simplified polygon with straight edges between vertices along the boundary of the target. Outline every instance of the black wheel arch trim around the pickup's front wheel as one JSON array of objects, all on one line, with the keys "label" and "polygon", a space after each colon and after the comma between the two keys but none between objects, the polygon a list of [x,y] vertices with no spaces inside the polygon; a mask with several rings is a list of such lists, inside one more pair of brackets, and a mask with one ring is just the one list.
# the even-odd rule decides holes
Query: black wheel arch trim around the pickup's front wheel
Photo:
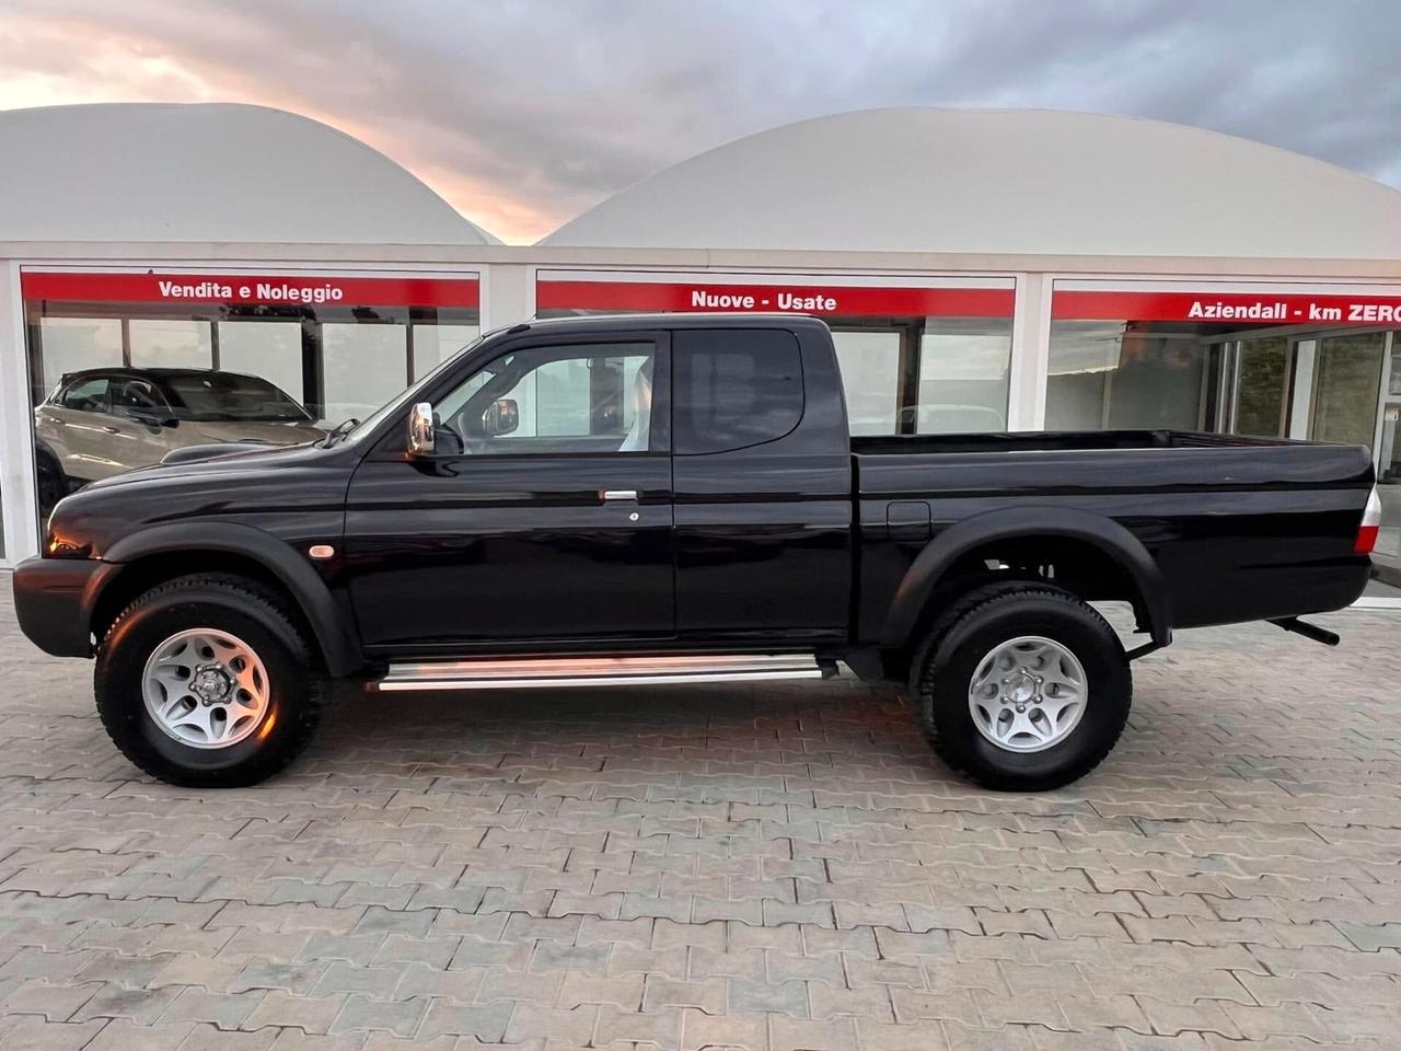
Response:
[{"label": "black wheel arch trim around the pickup's front wheel", "polygon": [[102,559],[118,572],[90,597],[91,631],[106,626],[137,594],[188,573],[237,573],[286,596],[287,612],[308,631],[331,675],[364,666],[359,639],[331,589],[291,547],[262,530],[237,523],[157,526],[113,544]]}]

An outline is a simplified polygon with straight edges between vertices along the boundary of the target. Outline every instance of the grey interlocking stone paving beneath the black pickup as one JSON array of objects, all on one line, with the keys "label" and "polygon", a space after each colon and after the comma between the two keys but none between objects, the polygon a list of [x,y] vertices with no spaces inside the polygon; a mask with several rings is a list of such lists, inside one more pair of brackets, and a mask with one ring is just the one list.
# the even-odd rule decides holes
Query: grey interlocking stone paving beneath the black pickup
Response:
[{"label": "grey interlocking stone paving beneath the black pickup", "polygon": [[357,698],[198,793],[0,593],[6,1051],[1401,1045],[1397,617],[1187,633],[1042,796],[849,681]]}]

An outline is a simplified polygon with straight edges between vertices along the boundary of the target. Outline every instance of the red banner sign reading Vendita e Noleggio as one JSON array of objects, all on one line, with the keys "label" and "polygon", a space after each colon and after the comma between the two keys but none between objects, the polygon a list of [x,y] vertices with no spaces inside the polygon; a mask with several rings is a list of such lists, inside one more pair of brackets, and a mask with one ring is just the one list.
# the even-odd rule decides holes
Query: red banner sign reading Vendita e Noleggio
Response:
[{"label": "red banner sign reading Vendita e Noleggio", "polygon": [[74,273],[24,270],[27,300],[346,307],[476,307],[476,277],[345,277],[268,273]]}]

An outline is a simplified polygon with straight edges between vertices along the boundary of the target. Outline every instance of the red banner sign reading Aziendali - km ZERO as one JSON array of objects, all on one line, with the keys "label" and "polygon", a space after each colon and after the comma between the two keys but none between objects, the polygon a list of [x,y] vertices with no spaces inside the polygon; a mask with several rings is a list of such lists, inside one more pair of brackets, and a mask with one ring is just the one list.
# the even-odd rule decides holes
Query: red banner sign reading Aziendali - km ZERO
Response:
[{"label": "red banner sign reading Aziendali - km ZERO", "polygon": [[1395,296],[1295,291],[1056,290],[1051,317],[1062,321],[1199,321],[1251,325],[1401,324]]}]

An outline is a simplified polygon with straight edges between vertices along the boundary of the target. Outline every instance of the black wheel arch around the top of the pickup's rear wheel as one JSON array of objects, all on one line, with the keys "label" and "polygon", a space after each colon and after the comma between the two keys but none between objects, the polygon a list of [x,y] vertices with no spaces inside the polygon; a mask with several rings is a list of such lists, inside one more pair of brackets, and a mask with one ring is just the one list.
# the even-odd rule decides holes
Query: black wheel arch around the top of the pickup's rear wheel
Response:
[{"label": "black wheel arch around the top of the pickup's rear wheel", "polygon": [[[1143,542],[1124,526],[1101,514],[1070,507],[1017,507],[976,514],[950,526],[932,540],[915,558],[891,601],[881,633],[881,646],[908,650],[918,643],[919,631],[948,598],[968,562],[979,554],[999,551],[1045,551],[1069,561],[1098,561],[1112,568],[1114,591],[1133,605],[1139,628],[1156,646],[1173,639],[1173,611],[1163,575]],[[1054,559],[1048,559],[1054,561]],[[986,583],[984,570],[976,583]],[[976,586],[971,583],[971,586]],[[1061,580],[1044,580],[1065,586]],[[1073,590],[1073,589],[1072,589]],[[1087,596],[1100,597],[1100,596]]]}]

